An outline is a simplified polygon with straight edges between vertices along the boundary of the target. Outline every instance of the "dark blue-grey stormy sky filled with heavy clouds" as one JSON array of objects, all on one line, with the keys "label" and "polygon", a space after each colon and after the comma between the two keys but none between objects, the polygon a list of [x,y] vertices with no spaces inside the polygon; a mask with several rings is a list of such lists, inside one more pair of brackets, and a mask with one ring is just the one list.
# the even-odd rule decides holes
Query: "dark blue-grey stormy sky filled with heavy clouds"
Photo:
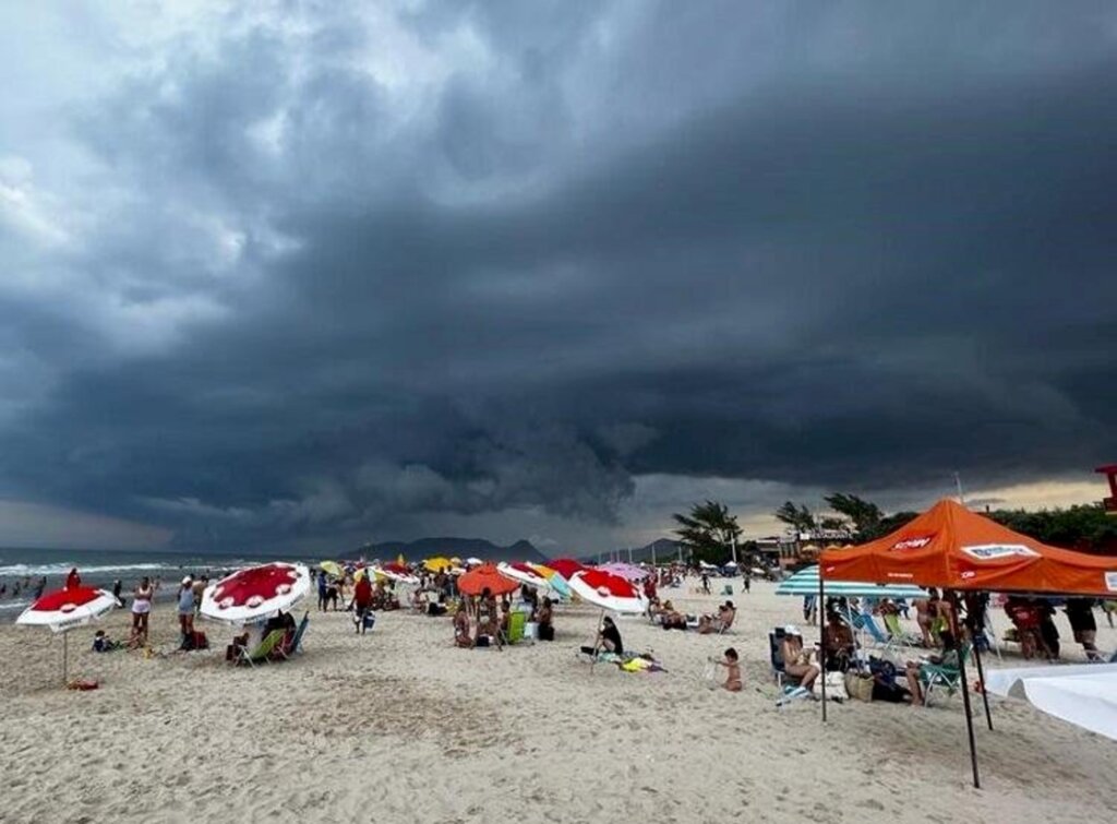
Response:
[{"label": "dark blue-grey stormy sky filled with heavy clouds", "polygon": [[1100,499],[1111,2],[0,7],[0,543]]}]

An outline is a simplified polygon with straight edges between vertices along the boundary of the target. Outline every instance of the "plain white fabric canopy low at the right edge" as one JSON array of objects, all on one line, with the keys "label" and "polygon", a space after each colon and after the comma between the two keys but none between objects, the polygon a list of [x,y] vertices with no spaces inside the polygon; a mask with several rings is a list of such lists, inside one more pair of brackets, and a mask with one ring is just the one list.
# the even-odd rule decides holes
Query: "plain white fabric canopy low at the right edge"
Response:
[{"label": "plain white fabric canopy low at the right edge", "polygon": [[990,670],[985,689],[1117,740],[1117,664]]}]

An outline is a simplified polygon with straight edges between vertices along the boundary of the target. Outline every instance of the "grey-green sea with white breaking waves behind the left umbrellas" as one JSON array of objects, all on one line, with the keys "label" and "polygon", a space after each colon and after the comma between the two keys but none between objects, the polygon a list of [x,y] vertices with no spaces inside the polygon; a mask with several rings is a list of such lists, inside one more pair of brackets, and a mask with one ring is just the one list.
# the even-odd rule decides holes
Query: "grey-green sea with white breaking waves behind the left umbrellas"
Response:
[{"label": "grey-green sea with white breaking waves behind the left umbrellas", "polygon": [[[6,549],[0,548],[0,623],[15,621],[31,603],[40,578],[47,578],[47,591],[66,581],[70,569],[77,567],[82,583],[112,589],[117,579],[121,594],[128,596],[144,576],[162,580],[156,598],[172,598],[179,583],[188,574],[219,578],[240,567],[273,560],[300,560],[284,555],[238,555],[228,551],[122,551],[95,549]],[[305,559],[304,559],[305,560]],[[19,588],[17,594],[16,588]]]}]

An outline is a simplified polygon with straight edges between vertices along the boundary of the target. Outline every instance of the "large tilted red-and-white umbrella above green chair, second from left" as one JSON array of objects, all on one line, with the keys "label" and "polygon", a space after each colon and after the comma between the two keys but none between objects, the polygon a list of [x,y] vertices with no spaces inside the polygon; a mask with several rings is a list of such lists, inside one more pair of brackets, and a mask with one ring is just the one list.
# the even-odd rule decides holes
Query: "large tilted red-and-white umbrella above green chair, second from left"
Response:
[{"label": "large tilted red-and-white umbrella above green chair, second from left", "polygon": [[201,615],[226,624],[254,624],[292,609],[309,591],[311,572],[302,563],[248,567],[206,588]]}]

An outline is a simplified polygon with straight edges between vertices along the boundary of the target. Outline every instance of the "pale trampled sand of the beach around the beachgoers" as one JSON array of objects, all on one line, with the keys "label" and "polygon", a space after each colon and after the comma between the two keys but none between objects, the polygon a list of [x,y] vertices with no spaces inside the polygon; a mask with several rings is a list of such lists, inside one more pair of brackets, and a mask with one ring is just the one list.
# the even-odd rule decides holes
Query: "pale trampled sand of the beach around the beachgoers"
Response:
[{"label": "pale trampled sand of the beach around the beachgoers", "polygon": [[[825,724],[814,702],[777,709],[766,632],[801,616],[772,589],[734,596],[732,636],[620,622],[668,670],[653,674],[577,661],[598,617],[584,606],[561,609],[554,643],[503,652],[455,648],[448,618],[381,614],[361,637],[349,615],[312,613],[305,653],[255,670],[228,666],[231,633],[206,622],[211,651],[150,659],[95,655],[87,627],[70,671],[101,689],[84,693],[59,689],[60,638],[4,626],[0,821],[1098,822],[1117,807],[1114,742],[1021,702],[977,728],[981,790],[960,697],[848,701]],[[676,593],[693,613],[719,600]],[[127,621],[99,626],[123,637]],[[1117,647],[1099,621],[1099,646]],[[173,650],[173,610],[152,626]],[[703,678],[731,644],[739,694]]]}]

